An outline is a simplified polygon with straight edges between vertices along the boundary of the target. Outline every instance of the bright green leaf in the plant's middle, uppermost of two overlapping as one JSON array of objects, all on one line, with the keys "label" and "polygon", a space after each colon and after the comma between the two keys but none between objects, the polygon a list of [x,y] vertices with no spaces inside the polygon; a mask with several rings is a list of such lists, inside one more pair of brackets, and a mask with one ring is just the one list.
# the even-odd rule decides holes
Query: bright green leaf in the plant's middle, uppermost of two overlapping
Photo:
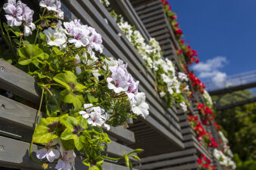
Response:
[{"label": "bright green leaf in the plant's middle, uppermost of two overlapping", "polygon": [[81,91],[86,88],[84,85],[76,82],[76,75],[70,71],[66,71],[66,73],[60,73],[56,75],[54,78],[55,82],[64,85],[69,91]]}]

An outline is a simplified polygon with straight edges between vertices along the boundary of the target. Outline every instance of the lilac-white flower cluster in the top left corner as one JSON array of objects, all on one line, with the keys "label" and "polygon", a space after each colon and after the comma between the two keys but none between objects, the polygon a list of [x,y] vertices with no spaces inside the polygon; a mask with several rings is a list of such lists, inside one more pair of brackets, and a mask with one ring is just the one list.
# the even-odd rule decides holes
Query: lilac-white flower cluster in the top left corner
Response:
[{"label": "lilac-white flower cluster in the top left corner", "polygon": [[20,26],[23,23],[24,36],[30,36],[32,31],[36,29],[36,25],[32,22],[34,11],[27,5],[20,1],[8,0],[8,3],[5,3],[3,8],[6,12],[5,17],[9,26]]}]

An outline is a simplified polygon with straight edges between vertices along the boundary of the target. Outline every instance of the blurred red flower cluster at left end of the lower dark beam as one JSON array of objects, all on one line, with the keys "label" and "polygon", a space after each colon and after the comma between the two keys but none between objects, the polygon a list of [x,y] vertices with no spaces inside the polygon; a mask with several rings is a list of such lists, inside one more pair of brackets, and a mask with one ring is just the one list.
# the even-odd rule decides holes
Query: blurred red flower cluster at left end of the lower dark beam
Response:
[{"label": "blurred red flower cluster at left end of the lower dark beam", "polygon": [[204,104],[198,104],[198,112],[200,113],[201,120],[203,121],[204,125],[209,125],[209,122],[215,119],[214,113]]}]

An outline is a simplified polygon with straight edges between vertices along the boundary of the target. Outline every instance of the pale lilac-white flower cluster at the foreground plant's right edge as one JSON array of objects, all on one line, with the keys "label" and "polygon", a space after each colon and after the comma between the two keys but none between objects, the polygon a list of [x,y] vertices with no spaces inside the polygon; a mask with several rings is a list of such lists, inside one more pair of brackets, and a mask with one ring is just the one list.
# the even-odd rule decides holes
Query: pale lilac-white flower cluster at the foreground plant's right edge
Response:
[{"label": "pale lilac-white flower cluster at the foreground plant's right edge", "polygon": [[107,78],[108,88],[113,89],[115,93],[125,93],[130,100],[130,106],[133,113],[141,115],[143,118],[148,116],[148,104],[145,103],[145,93],[138,92],[139,81],[134,81],[133,76],[127,71],[127,63],[123,60],[108,61],[110,63],[111,77]]}]

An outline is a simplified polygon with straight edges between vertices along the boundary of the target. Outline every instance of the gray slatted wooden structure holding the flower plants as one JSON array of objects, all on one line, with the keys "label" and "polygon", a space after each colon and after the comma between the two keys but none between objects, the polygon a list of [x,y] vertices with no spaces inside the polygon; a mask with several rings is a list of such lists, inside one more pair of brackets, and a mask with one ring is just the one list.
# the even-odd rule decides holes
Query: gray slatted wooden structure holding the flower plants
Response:
[{"label": "gray slatted wooden structure holding the flower plants", "polygon": [[[209,159],[211,152],[198,144],[195,133],[187,121],[186,113],[176,107],[167,108],[164,101],[155,92],[155,77],[146,71],[142,60],[133,45],[123,34],[108,10],[98,0],[62,0],[66,20],[80,19],[82,23],[94,27],[101,34],[104,54],[107,57],[120,58],[128,63],[129,72],[139,80],[139,91],[146,94],[149,104],[149,116],[130,122],[130,128],[111,128],[108,134],[113,141],[108,145],[108,156],[121,156],[123,151],[141,148],[140,162],[134,162],[134,169],[197,169],[196,159],[204,153]],[[131,3],[130,3],[131,2]],[[146,5],[143,4],[145,2]],[[164,57],[176,63],[180,68],[175,48],[179,49],[169,21],[164,14],[161,1],[145,0],[111,0],[111,8],[119,11],[126,20],[136,26],[145,40],[150,37],[160,42]],[[106,22],[108,20],[108,22]],[[118,36],[121,35],[121,36]],[[191,84],[190,84],[191,85]],[[0,169],[42,169],[33,163],[29,156],[30,141],[39,104],[40,91],[36,89],[36,80],[0,60],[0,88],[11,91],[28,102],[21,104],[15,100],[0,96]],[[201,95],[195,93],[196,102],[203,102]],[[189,112],[197,114],[195,105]],[[33,145],[33,157],[40,146]],[[76,157],[76,170],[86,169]],[[54,169],[55,165],[49,165]],[[122,163],[105,162],[105,170],[127,169]]]}]

